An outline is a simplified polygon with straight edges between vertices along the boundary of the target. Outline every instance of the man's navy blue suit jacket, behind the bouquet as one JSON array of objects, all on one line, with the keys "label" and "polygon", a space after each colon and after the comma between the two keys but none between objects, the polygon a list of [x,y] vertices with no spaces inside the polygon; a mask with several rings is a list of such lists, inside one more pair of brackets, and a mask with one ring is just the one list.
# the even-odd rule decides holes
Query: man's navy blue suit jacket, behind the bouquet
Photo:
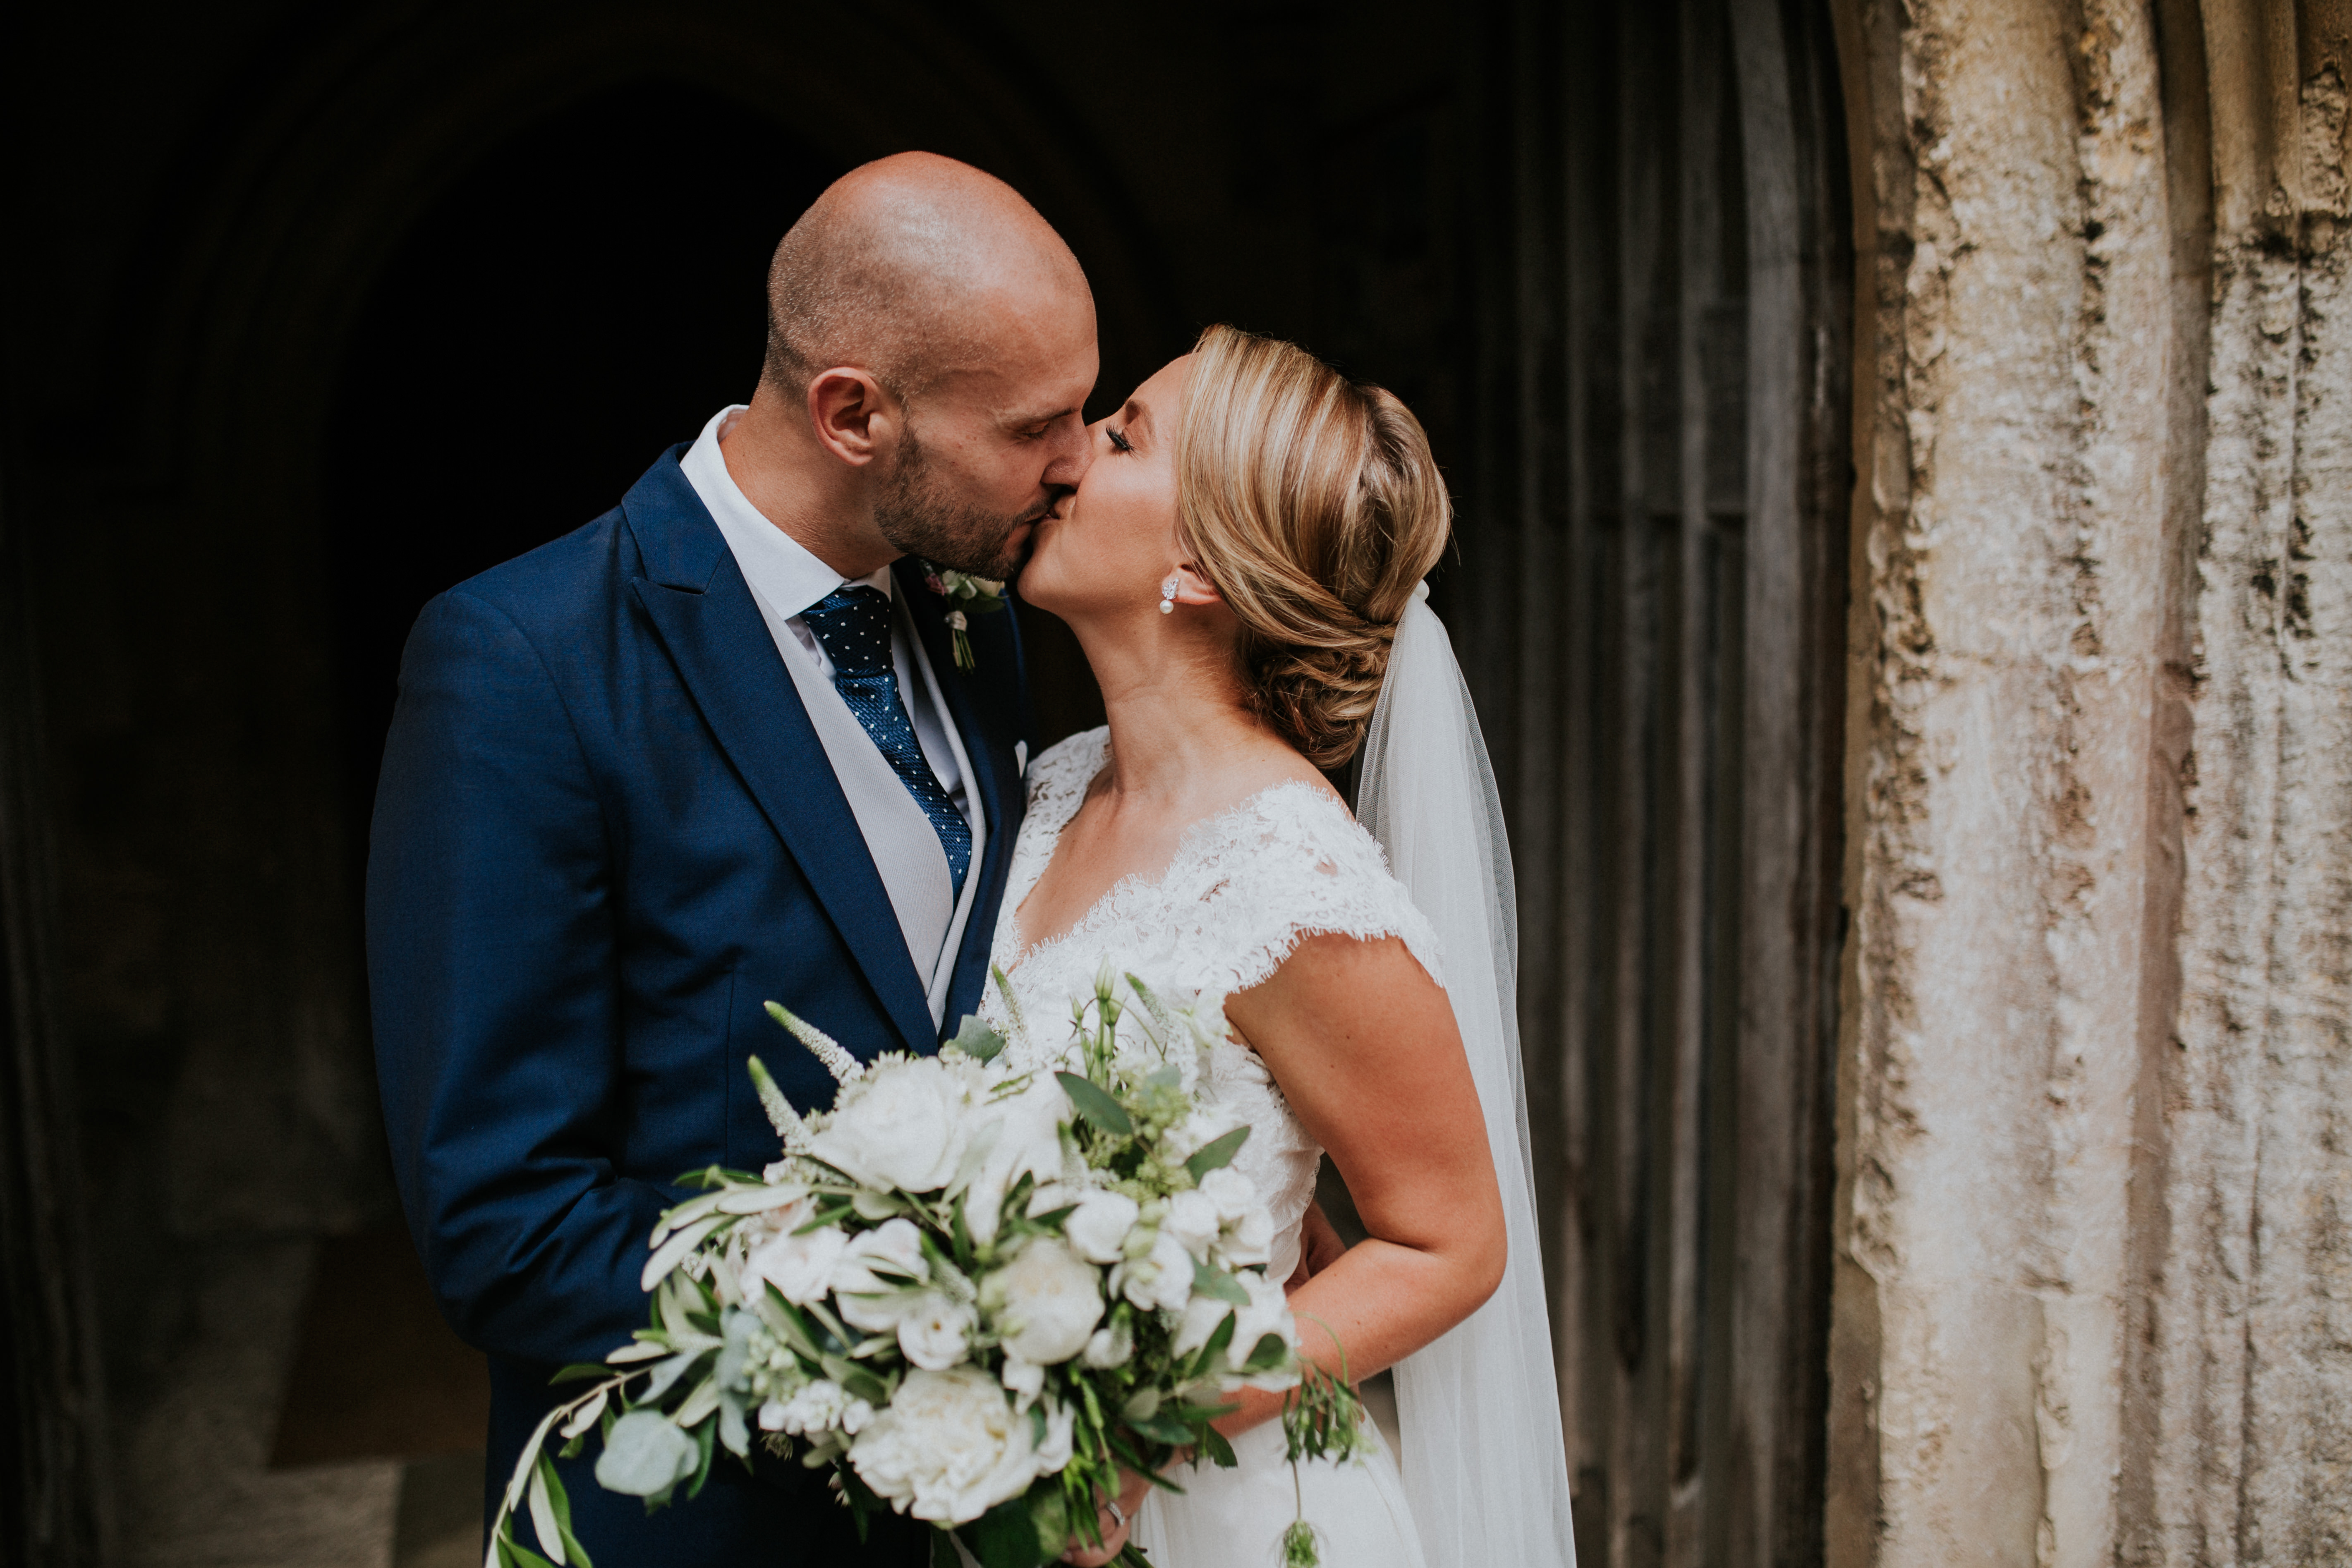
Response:
[{"label": "man's navy blue suit jacket, behind the bouquet", "polygon": [[[383,750],[376,1070],[416,1248],[449,1324],[489,1352],[489,1490],[553,1403],[548,1373],[644,1326],[637,1276],[682,1197],[670,1182],[776,1157],[743,1058],[800,1107],[830,1103],[762,1001],[861,1058],[938,1048],[882,877],[682,451],[586,529],[433,599]],[[1021,639],[1011,614],[976,616],[964,675],[910,562],[898,590],[988,813],[953,1032],[981,999],[1021,825]],[[654,1521],[586,1460],[567,1481],[604,1563],[920,1561],[903,1523],[861,1554],[800,1465],[722,1460]]]}]

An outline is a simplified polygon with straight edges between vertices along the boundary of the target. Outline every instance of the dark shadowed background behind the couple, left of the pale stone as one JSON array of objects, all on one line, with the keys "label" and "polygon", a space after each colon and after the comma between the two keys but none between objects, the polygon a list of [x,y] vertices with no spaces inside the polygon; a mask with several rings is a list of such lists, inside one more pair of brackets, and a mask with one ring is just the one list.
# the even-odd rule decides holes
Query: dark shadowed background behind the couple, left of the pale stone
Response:
[{"label": "dark shadowed background behind the couple, left of the pale stone", "polygon": [[[12,1387],[49,1389],[14,1403],[71,1415],[19,1429],[26,1474],[66,1481],[0,1523],[47,1530],[45,1563],[477,1561],[480,1366],[397,1225],[360,964],[400,644],[430,595],[588,522],[746,400],[776,237],[842,169],[929,148],[1077,252],[1089,416],[1223,320],[1428,425],[1463,520],[1435,597],[1519,846],[1588,1561],[1611,1540],[1649,1561],[1670,1516],[1802,1544],[1818,1312],[1752,1324],[1740,1366],[1780,1371],[1738,1399],[1795,1415],[1736,1427],[1736,1307],[1708,1267],[1750,1204],[1795,1215],[1788,1300],[1823,1295],[1828,1128],[1776,1121],[1785,1159],[1733,1192],[1708,1154],[1729,1131],[1693,1107],[1745,1027],[1722,985],[1750,961],[1738,802],[1764,755],[1740,750],[1757,442],[1809,487],[1766,517],[1766,550],[1802,555],[1766,616],[1802,698],[1762,719],[1795,736],[1771,788],[1828,811],[1769,849],[1811,882],[1766,924],[1795,926],[1799,990],[1828,978],[1825,28],[1795,0],[12,14],[0,113],[38,221],[0,252],[0,719],[24,722],[0,729],[0,936],[31,976],[12,1041],[56,1051],[54,1084],[0,1095],[52,1133],[19,1138],[0,1229],[12,1269],[56,1281],[12,1305]],[[1736,68],[1733,38],[1762,52]],[[1743,101],[1738,71],[1780,96]],[[1750,136],[1799,174],[1773,254],[1813,268],[1766,324],[1828,367],[1757,371],[1780,376],[1759,404]],[[1037,743],[1098,722],[1068,632],[1025,632]],[[1804,1103],[1830,999],[1790,1016],[1750,1044]],[[49,1103],[71,1110],[24,1110]],[[47,1218],[7,1229],[21,1192]]]}]

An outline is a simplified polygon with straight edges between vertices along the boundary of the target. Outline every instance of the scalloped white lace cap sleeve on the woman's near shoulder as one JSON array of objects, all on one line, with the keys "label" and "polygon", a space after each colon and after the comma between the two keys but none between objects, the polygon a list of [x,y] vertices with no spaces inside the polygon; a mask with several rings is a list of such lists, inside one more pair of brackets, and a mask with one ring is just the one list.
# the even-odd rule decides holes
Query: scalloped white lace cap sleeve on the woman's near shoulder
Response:
[{"label": "scalloped white lace cap sleeve on the woman's near shoulder", "polygon": [[1265,790],[1214,823],[1188,870],[1202,950],[1216,954],[1228,992],[1265,980],[1310,936],[1395,936],[1437,985],[1446,983],[1435,926],[1388,872],[1378,839],[1327,790]]}]

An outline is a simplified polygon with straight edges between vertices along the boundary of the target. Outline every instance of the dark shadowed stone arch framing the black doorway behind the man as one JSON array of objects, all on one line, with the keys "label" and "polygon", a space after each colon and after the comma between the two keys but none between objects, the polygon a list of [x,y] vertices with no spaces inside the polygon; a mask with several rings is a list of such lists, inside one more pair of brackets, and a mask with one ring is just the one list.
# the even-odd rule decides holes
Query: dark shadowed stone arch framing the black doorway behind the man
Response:
[{"label": "dark shadowed stone arch framing the black doorway behind the man", "polygon": [[[318,42],[200,172],[160,268],[125,440],[155,480],[134,520],[174,607],[176,703],[155,743],[252,736],[235,766],[160,799],[198,893],[162,938],[207,1018],[188,1032],[167,1124],[183,1229],[334,1225],[372,1143],[350,964],[350,837],[334,745],[327,444],[369,287],[485,148],[628,82],[673,80],[786,127],[847,167],[929,146],[1002,172],[1070,235],[1096,284],[1105,383],[1171,334],[1115,202],[985,40],[931,16],[774,7],[379,9]],[[659,207],[659,190],[647,193]],[[741,388],[713,388],[713,395]],[[682,430],[680,435],[691,435]],[[259,875],[254,875],[259,872]],[[207,936],[209,933],[209,936]],[[233,936],[230,936],[233,933]],[[315,1180],[287,1180],[287,1161]],[[343,1175],[329,1178],[329,1171]],[[365,1182],[362,1182],[365,1187]]]}]

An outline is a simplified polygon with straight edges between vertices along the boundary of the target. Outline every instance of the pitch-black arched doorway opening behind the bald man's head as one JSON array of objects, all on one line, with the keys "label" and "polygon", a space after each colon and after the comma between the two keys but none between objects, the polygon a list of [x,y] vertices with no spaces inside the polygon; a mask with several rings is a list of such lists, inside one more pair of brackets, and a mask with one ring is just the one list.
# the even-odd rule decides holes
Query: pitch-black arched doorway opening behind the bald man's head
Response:
[{"label": "pitch-black arched doorway opening behind the bald man's head", "polygon": [[633,82],[487,153],[390,256],[327,451],[360,858],[416,611],[616,505],[750,397],[769,252],[840,172],[755,110]]}]

